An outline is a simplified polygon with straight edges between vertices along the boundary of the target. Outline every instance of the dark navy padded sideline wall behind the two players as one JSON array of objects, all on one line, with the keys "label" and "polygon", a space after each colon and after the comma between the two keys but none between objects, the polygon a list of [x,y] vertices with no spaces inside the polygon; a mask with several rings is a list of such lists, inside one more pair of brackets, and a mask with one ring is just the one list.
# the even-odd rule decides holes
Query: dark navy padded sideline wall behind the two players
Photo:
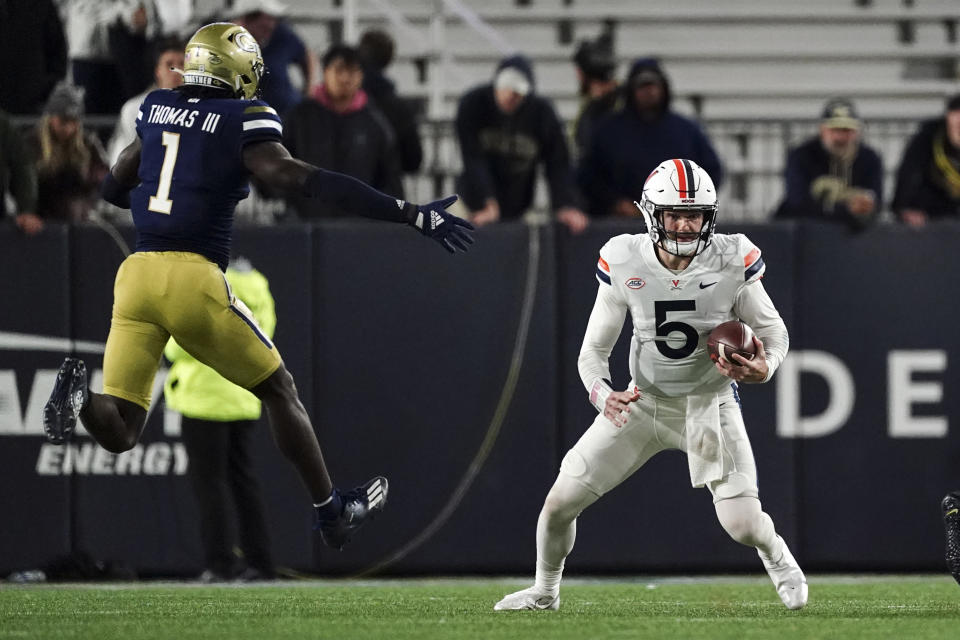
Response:
[{"label": "dark navy padded sideline wall behind the two players", "polygon": [[[391,225],[238,228],[235,253],[270,279],[276,342],[335,481],[350,488],[375,474],[391,480],[381,521],[332,552],[310,531],[307,493],[264,422],[256,464],[278,562],[356,574],[402,550],[441,512],[494,418],[534,233],[532,320],[501,431],[443,526],[383,570],[529,573],[544,496],[595,415],[576,358],[596,295],[597,252],[610,237],[638,230],[635,222],[600,221],[571,236],[504,223],[482,229],[470,253],[449,256]],[[763,249],[764,284],[790,329],[791,353],[827,354],[854,386],[842,426],[796,438],[783,435],[778,416],[782,378],[744,385],[764,508],[810,570],[942,570],[939,500],[960,486],[960,401],[952,393],[960,384],[953,326],[960,226],[878,227],[858,236],[790,224],[724,230],[743,231]],[[177,466],[179,435],[165,431],[162,406],[143,439],[141,456],[153,447],[151,462],[141,460],[137,473],[128,465],[118,475],[116,460],[97,457],[86,436],[75,443],[72,475],[37,471],[50,455],[39,408],[69,340],[99,369],[94,347],[106,339],[121,258],[93,226],[51,225],[34,238],[0,228],[0,573],[71,549],[143,572],[202,568],[196,508]],[[628,338],[627,327],[611,359],[621,387]],[[893,389],[897,358],[915,369]],[[803,418],[837,401],[822,376],[797,379]],[[945,432],[891,433],[897,406],[942,419],[934,424]],[[47,471],[62,470],[62,460],[46,463]],[[568,566],[575,573],[759,571],[755,554],[716,522],[709,492],[689,487],[686,461],[675,452],[585,512]]]}]

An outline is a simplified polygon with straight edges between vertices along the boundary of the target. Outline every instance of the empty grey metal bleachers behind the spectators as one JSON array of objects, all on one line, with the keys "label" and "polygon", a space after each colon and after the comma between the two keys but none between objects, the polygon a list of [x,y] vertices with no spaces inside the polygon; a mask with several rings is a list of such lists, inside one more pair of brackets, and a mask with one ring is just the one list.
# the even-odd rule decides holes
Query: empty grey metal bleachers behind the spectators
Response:
[{"label": "empty grey metal bleachers behind the spectators", "polygon": [[[429,119],[441,123],[453,117],[464,90],[488,80],[496,62],[513,51],[533,59],[538,90],[554,100],[562,117],[572,118],[578,96],[570,57],[580,40],[609,31],[621,76],[635,57],[661,58],[677,110],[704,122],[729,169],[723,189],[728,213],[744,219],[764,219],[776,205],[785,150],[815,131],[827,98],[854,99],[868,123],[866,139],[883,153],[892,189],[900,150],[916,121],[937,114],[944,96],[958,88],[960,41],[952,0],[286,4],[290,21],[318,50],[368,28],[392,31],[398,59],[391,77],[401,93],[430,104]],[[454,5],[466,7],[496,36],[468,24]],[[442,19],[438,7],[446,7]],[[391,22],[398,16],[402,27]],[[440,124],[426,133],[449,131]],[[449,188],[459,164],[449,140],[428,140],[426,146],[426,166],[442,169],[415,180],[414,193],[432,194],[438,183]]]}]

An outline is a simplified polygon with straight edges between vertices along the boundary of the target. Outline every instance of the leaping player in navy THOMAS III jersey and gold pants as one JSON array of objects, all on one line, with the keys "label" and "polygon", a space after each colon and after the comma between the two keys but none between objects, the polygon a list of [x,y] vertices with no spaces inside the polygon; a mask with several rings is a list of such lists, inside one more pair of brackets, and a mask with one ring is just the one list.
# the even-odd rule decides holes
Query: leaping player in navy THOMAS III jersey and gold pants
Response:
[{"label": "leaping player in navy THOMAS III jersey and gold pants", "polygon": [[44,408],[44,430],[62,443],[77,419],[105,449],[140,438],[167,340],[259,397],[281,452],[307,486],[323,541],[341,548],[383,509],[387,480],[340,493],[280,354],[224,278],[233,212],[252,174],[280,191],[378,220],[405,222],[451,253],[473,242],[456,200],[418,206],[343,174],[292,158],[276,112],[256,99],[263,58],[243,27],[210,24],[187,43],[184,84],[153,91],[137,114],[137,138],[104,180],[105,200],[130,208],[137,246],[117,272],[103,393],[87,388],[84,363],[67,358]]}]

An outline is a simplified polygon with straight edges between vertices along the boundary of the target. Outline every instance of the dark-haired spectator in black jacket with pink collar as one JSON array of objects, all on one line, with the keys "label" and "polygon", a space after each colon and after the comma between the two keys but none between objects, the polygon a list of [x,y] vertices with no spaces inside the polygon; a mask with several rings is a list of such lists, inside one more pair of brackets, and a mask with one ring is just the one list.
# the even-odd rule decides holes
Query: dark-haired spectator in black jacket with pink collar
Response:
[{"label": "dark-haired spectator in black jacket with pink collar", "polygon": [[[402,198],[393,131],[361,89],[363,70],[354,47],[335,44],[323,56],[323,83],[284,118],[283,143],[295,158],[353,176]],[[294,196],[301,218],[355,215],[316,199]]]}]

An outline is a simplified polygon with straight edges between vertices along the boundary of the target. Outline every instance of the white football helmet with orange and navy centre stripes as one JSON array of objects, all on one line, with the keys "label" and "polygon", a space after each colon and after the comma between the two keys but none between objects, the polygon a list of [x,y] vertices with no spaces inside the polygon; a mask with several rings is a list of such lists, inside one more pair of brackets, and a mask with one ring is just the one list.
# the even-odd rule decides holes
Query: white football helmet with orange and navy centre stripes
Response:
[{"label": "white football helmet with orange and navy centre stripes", "polygon": [[[653,243],[675,256],[695,256],[709,246],[717,222],[717,190],[710,175],[693,160],[665,160],[643,184],[640,202],[634,202]],[[664,211],[703,213],[703,226],[696,240],[680,242],[663,226]]]}]

